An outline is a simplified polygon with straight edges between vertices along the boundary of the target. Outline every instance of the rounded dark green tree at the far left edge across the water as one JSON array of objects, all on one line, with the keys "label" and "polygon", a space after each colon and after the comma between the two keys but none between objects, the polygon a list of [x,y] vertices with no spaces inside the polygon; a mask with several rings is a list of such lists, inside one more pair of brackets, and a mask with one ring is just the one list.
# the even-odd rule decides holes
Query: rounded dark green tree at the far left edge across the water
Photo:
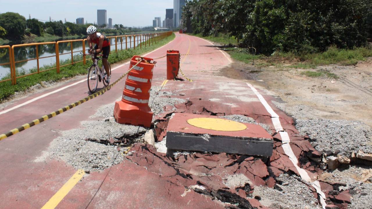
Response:
[{"label": "rounded dark green tree at the far left edge across the water", "polygon": [[0,26],[7,32],[10,39],[23,38],[26,29],[26,18],[14,12],[0,14]]}]

